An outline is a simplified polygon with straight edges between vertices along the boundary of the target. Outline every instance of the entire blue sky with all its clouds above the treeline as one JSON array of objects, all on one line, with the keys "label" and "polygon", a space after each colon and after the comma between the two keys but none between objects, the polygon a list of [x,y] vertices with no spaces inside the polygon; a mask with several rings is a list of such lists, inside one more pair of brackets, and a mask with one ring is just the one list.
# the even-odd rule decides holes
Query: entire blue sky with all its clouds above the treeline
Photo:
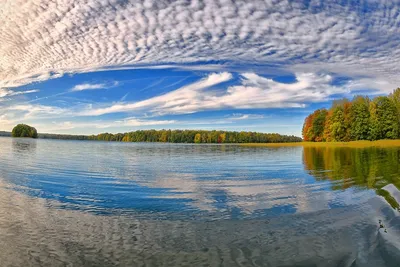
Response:
[{"label": "entire blue sky with all its clouds above the treeline", "polygon": [[400,86],[400,1],[3,0],[0,130],[301,135]]}]

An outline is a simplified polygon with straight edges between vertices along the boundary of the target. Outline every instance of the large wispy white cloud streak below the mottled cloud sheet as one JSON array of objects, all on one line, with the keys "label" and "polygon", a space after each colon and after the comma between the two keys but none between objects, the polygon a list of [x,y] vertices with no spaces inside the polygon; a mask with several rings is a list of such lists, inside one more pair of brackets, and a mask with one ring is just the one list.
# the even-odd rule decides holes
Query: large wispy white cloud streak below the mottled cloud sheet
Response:
[{"label": "large wispy white cloud streak below the mottled cloud sheet", "polygon": [[347,85],[332,85],[333,78],[330,75],[315,73],[298,73],[294,83],[279,83],[255,73],[244,73],[240,85],[210,90],[210,87],[231,79],[230,73],[214,73],[164,95],[135,103],[94,108],[81,115],[98,116],[132,111],[164,115],[221,109],[303,108],[309,103],[327,101],[332,95],[351,92],[351,87]]}]

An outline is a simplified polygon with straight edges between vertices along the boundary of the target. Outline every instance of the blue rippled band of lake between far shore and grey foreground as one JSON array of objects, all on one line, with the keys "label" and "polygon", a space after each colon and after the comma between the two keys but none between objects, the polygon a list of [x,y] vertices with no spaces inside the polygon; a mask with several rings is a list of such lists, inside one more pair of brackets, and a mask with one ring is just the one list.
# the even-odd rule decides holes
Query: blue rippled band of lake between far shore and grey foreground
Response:
[{"label": "blue rippled band of lake between far shore and grey foreground", "polygon": [[0,143],[2,151],[13,147],[0,157],[11,165],[0,165],[3,178],[83,210],[262,217],[343,207],[374,195],[333,191],[343,180],[316,182],[304,171],[301,147],[37,140],[34,153],[19,153],[11,140]]}]

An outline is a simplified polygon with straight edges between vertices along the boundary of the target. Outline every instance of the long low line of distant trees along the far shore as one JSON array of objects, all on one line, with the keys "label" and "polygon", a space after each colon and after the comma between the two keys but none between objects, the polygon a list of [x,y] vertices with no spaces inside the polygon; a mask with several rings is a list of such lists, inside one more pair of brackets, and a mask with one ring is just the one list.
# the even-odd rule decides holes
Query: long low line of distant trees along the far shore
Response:
[{"label": "long low line of distant trees along the far shore", "polygon": [[285,143],[301,142],[293,135],[257,132],[230,132],[204,130],[139,130],[128,133],[101,133],[98,135],[39,134],[44,139],[97,140],[115,142],[164,143]]}]

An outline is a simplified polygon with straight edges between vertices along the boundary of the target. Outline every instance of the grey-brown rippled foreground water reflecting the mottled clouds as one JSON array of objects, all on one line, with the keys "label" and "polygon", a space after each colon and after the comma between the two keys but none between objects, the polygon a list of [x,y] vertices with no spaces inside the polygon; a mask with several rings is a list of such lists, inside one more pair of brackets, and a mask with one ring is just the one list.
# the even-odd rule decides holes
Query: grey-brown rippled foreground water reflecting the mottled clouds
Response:
[{"label": "grey-brown rippled foreground water reflecting the mottled clouds", "polygon": [[[56,209],[0,180],[3,266],[397,266],[398,217],[374,198],[270,220],[139,220]],[[390,234],[379,232],[383,219]]]}]

